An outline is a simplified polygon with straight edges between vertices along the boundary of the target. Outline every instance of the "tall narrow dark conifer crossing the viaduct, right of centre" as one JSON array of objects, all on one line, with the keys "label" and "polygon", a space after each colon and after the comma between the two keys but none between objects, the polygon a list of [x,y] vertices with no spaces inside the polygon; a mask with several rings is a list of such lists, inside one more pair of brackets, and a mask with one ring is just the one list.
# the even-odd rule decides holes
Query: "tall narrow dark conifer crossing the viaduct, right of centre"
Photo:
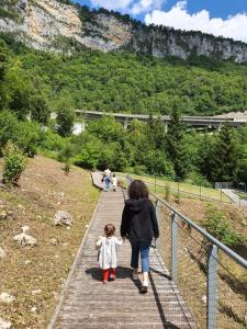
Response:
[{"label": "tall narrow dark conifer crossing the viaduct, right of centre", "polygon": [[178,179],[183,179],[188,172],[189,161],[184,145],[184,128],[178,103],[175,103],[167,132],[167,152],[173,163]]}]

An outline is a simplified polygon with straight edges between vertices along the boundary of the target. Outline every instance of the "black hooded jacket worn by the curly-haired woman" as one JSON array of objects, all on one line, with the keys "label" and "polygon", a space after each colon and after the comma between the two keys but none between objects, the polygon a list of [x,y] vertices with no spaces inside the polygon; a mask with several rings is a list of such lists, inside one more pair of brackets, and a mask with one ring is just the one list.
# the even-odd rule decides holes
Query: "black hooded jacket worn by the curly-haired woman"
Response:
[{"label": "black hooded jacket worn by the curly-haired woman", "polygon": [[150,200],[127,200],[124,205],[120,234],[131,241],[146,241],[159,237],[155,207]]}]

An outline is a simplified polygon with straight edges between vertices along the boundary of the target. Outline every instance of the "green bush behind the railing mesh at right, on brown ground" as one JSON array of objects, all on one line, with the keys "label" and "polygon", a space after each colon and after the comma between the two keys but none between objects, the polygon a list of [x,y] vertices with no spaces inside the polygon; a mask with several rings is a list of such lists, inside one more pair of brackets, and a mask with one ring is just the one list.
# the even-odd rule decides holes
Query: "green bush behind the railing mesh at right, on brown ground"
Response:
[{"label": "green bush behind the railing mesh at right, on brown ground", "polygon": [[238,247],[245,240],[244,237],[233,230],[223,212],[212,206],[207,207],[203,226],[214,238],[228,247]]}]

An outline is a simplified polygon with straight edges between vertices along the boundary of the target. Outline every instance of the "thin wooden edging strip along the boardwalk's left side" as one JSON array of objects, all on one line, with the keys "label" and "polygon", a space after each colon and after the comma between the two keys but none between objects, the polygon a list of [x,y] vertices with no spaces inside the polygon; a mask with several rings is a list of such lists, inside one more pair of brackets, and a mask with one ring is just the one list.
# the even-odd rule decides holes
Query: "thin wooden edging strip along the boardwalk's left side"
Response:
[{"label": "thin wooden edging strip along the boardwalk's left side", "polygon": [[59,302],[58,302],[58,304],[57,304],[57,306],[56,306],[56,309],[55,309],[55,311],[54,311],[54,314],[53,314],[53,316],[52,316],[49,322],[48,322],[47,329],[54,329],[54,328],[55,328],[54,326],[55,326],[55,324],[56,324],[58,314],[59,314],[59,311],[60,311],[63,302],[64,302],[64,299],[65,299],[66,291],[67,291],[67,288],[68,288],[68,286],[69,286],[69,284],[70,284],[72,274],[75,273],[76,264],[77,264],[77,261],[78,261],[78,259],[79,259],[79,257],[80,257],[80,254],[81,254],[81,251],[82,251],[82,248],[83,248],[83,246],[85,246],[86,239],[87,239],[87,237],[88,237],[89,230],[90,230],[90,228],[92,227],[92,224],[94,223],[94,219],[96,219],[96,213],[97,213],[97,211],[98,211],[98,208],[99,208],[101,198],[102,198],[102,192],[101,192],[100,197],[99,197],[99,200],[98,200],[97,206],[96,206],[96,208],[94,208],[94,211],[93,211],[93,213],[92,213],[91,219],[90,219],[90,222],[89,222],[89,226],[88,226],[88,228],[87,228],[87,230],[86,230],[86,232],[85,232],[85,236],[83,236],[82,241],[81,241],[81,243],[80,243],[80,246],[79,246],[79,249],[78,249],[78,251],[77,251],[77,254],[76,254],[76,257],[75,257],[75,259],[74,259],[71,269],[70,269],[69,274],[68,274],[68,276],[67,276],[67,279],[66,279],[66,281],[65,281],[64,287],[63,287],[63,290],[61,290],[61,292],[60,292]]}]

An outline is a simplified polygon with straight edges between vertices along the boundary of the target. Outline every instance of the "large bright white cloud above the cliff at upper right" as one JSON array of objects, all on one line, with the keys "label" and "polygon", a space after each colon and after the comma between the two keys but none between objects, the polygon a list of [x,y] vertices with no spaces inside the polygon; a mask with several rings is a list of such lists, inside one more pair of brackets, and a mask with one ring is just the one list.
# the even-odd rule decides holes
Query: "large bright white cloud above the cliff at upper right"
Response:
[{"label": "large bright white cloud above the cliff at upper right", "polygon": [[211,19],[206,10],[190,14],[187,1],[178,1],[170,11],[153,10],[145,16],[147,24],[172,26],[187,31],[202,31],[247,42],[247,13],[231,15],[226,20]]}]

